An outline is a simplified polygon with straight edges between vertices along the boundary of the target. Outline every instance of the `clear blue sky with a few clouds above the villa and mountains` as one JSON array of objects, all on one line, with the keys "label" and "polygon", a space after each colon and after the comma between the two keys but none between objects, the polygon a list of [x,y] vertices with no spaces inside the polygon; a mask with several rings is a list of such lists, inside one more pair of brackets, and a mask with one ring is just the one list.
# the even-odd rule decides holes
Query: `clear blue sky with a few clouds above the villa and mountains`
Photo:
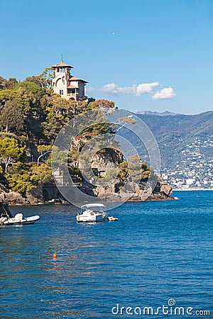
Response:
[{"label": "clear blue sky with a few clouds above the villa and mountains", "polygon": [[60,62],[129,111],[213,109],[213,0],[1,0],[0,76]]}]

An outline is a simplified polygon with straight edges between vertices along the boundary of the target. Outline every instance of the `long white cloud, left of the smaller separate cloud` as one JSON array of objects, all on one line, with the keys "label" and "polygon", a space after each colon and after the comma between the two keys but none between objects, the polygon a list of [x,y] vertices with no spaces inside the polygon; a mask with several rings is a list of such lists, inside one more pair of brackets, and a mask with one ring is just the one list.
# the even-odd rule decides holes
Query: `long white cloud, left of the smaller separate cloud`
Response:
[{"label": "long white cloud, left of the smaller separate cloud", "polygon": [[117,86],[114,83],[106,84],[102,87],[102,91],[112,93],[112,94],[119,94],[119,93],[126,93],[126,94],[135,94],[136,96],[141,96],[144,93],[151,93],[153,91],[154,86],[159,86],[158,82],[153,83],[143,83],[138,85],[132,86]]}]

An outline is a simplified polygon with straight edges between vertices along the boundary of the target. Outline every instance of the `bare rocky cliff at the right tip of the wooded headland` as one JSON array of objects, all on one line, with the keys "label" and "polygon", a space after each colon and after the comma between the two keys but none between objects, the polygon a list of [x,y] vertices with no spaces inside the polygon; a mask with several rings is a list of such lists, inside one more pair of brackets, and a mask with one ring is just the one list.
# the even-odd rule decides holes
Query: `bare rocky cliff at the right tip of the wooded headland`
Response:
[{"label": "bare rocky cliff at the right tip of the wooded headland", "polygon": [[[84,144],[87,140],[77,140],[77,144],[74,145],[74,148],[80,150],[81,142]],[[89,161],[95,177],[103,178],[102,185],[104,185],[95,186],[97,184],[95,177],[91,177],[88,181],[84,180],[80,190],[89,196],[102,198],[103,201],[123,201],[125,198],[130,201],[171,198],[171,186],[163,181],[162,177],[154,175],[152,170],[147,167],[145,163],[143,163],[143,179],[138,185],[133,181],[133,179],[137,179],[136,176],[130,177],[131,180],[129,180],[128,183],[126,183],[126,181],[124,182],[124,175],[122,179],[121,174],[122,172],[125,174],[125,165],[123,166],[123,171],[121,170],[120,175],[119,169],[122,169],[120,164],[125,161],[122,152],[119,151],[117,147],[104,148],[99,152],[94,153],[91,158],[89,158]],[[137,164],[138,159],[132,158],[131,161],[132,163],[135,161]],[[134,169],[137,172],[137,166],[134,167]],[[151,179],[148,179],[148,176],[150,175],[152,175],[152,177]]]}]

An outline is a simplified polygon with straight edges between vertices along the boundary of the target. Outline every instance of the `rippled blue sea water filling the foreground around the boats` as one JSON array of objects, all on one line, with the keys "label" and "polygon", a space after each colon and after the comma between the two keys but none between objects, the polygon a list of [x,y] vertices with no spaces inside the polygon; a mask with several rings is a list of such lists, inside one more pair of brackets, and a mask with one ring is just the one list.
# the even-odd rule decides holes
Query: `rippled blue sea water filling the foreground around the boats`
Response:
[{"label": "rippled blue sea water filling the foreground around the boats", "polygon": [[[0,318],[213,318],[213,192],[173,195],[124,203],[110,212],[119,221],[97,224],[77,224],[68,204],[12,207],[40,220],[0,228]],[[163,305],[170,314],[156,314]]]}]

